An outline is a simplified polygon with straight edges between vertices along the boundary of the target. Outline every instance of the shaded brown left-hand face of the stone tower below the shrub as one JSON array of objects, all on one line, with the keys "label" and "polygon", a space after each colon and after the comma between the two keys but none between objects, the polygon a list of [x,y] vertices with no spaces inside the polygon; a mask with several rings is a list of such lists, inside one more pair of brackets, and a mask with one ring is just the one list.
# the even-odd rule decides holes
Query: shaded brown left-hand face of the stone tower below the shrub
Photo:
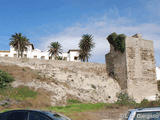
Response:
[{"label": "shaded brown left-hand face of the stone tower below the shrub", "polygon": [[122,90],[127,89],[126,52],[115,51],[110,45],[110,53],[106,54],[106,67],[109,76],[116,79]]}]

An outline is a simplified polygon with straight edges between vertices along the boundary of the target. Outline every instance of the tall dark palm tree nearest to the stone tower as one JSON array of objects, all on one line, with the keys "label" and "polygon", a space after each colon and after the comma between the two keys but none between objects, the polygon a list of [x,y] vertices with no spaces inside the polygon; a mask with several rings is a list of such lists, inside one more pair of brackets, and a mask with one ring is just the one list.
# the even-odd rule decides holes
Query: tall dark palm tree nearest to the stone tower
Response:
[{"label": "tall dark palm tree nearest to the stone tower", "polygon": [[93,42],[93,36],[90,34],[84,34],[79,43],[80,55],[79,58],[81,61],[88,62],[89,57],[91,56],[91,50],[94,48],[95,43]]}]

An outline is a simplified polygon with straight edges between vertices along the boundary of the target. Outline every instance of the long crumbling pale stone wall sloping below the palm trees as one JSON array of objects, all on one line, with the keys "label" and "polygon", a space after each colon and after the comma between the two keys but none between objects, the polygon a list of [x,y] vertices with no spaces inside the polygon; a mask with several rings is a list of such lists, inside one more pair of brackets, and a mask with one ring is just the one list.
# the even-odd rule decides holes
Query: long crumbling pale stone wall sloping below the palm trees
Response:
[{"label": "long crumbling pale stone wall sloping below the palm trees", "polygon": [[52,105],[63,104],[67,99],[89,103],[115,102],[121,90],[117,81],[108,76],[105,64],[3,57],[0,57],[0,64],[29,67],[48,78],[45,81],[18,79],[13,86],[45,89],[51,94]]}]

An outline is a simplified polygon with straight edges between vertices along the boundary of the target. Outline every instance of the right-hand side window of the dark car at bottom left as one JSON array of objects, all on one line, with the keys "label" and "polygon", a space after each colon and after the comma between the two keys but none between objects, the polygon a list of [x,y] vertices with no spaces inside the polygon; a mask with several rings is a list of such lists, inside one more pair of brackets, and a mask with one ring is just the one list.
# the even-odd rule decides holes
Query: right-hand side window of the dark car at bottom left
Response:
[{"label": "right-hand side window of the dark car at bottom left", "polygon": [[37,112],[30,112],[29,113],[29,120],[51,120],[47,116],[42,115]]}]

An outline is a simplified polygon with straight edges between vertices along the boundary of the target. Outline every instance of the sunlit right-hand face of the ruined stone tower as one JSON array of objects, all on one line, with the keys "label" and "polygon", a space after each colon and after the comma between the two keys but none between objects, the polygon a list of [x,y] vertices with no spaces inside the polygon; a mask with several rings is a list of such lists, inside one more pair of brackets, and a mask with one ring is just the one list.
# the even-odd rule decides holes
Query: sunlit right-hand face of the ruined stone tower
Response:
[{"label": "sunlit right-hand face of the ruined stone tower", "polygon": [[136,101],[153,99],[157,92],[153,42],[141,37],[126,38],[128,94]]}]

